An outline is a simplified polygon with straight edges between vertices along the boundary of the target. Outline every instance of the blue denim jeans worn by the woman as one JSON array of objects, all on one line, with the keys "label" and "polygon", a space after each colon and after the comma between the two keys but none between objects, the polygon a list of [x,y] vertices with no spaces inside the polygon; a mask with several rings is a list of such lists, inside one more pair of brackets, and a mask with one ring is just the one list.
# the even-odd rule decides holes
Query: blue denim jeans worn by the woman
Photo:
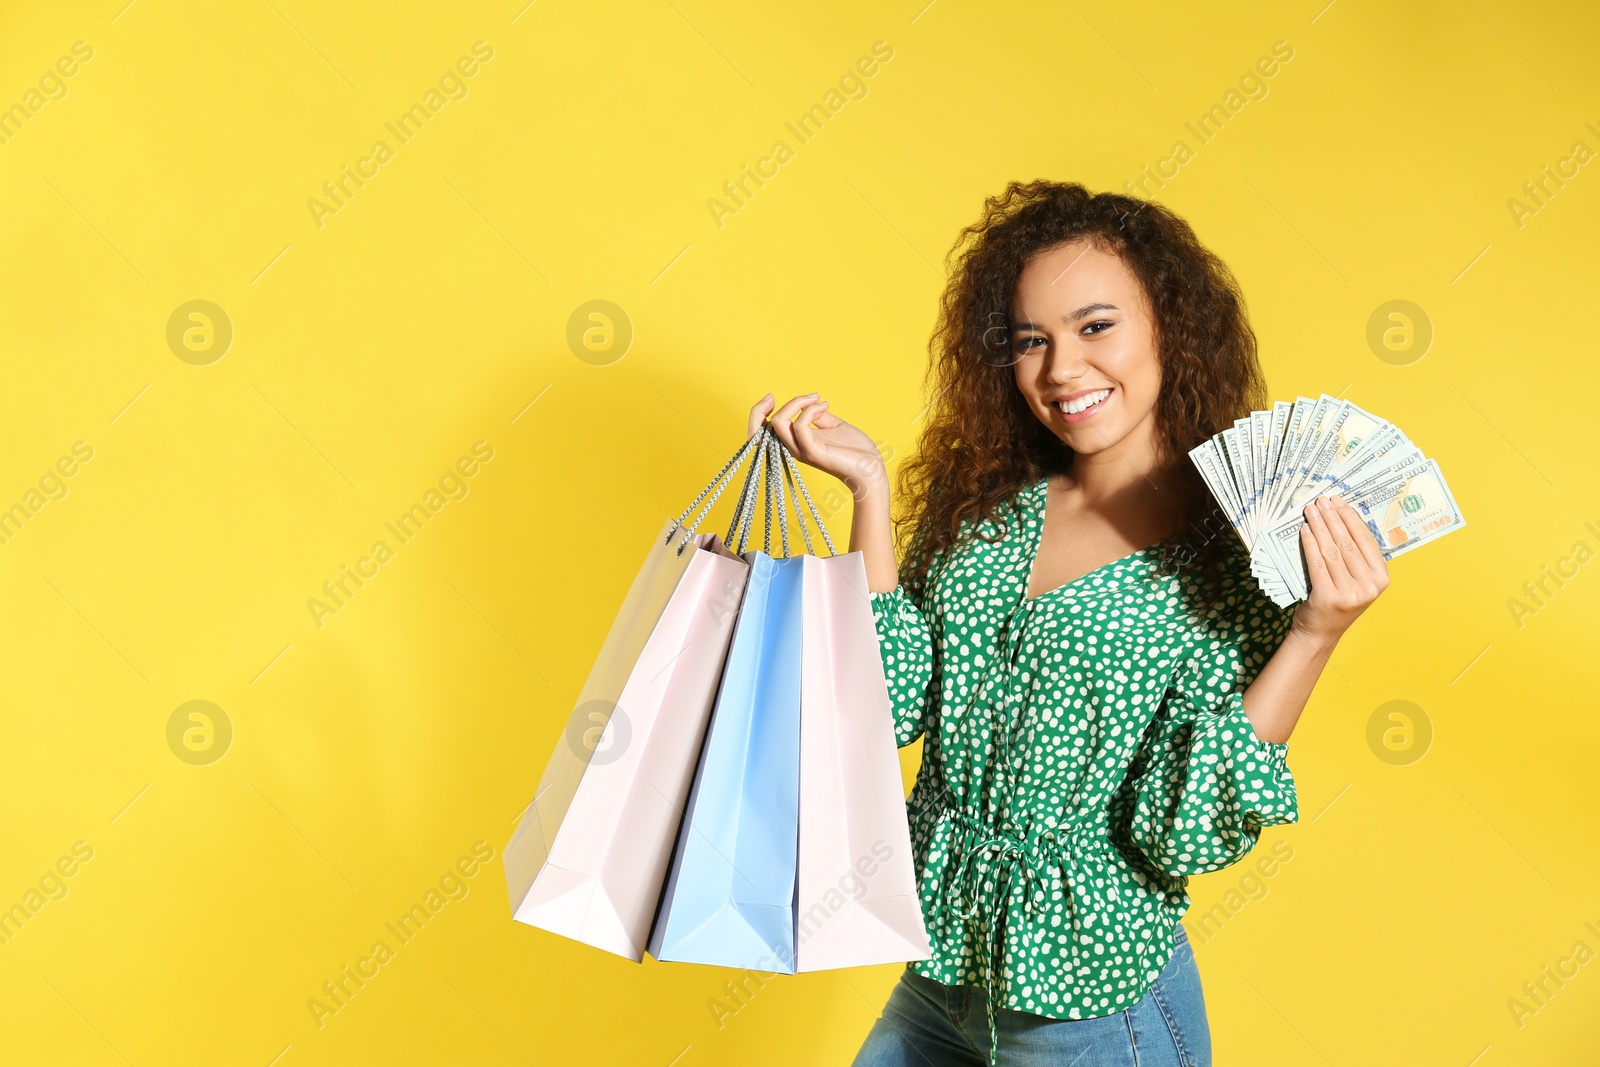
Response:
[{"label": "blue denim jeans worn by the woman", "polygon": [[[1046,1019],[1002,1009],[997,1067],[1211,1067],[1200,971],[1181,925],[1174,944],[1144,998],[1114,1016]],[[853,1067],[981,1067],[987,1059],[984,990],[907,968]]]}]

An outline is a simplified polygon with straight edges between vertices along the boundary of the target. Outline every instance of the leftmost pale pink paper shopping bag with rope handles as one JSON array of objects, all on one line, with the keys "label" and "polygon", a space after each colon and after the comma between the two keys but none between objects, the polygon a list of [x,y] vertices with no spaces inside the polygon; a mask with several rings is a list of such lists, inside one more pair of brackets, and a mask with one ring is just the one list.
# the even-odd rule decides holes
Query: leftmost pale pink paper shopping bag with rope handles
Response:
[{"label": "leftmost pale pink paper shopping bag with rope handles", "polygon": [[760,446],[752,435],[645,555],[506,846],[517,921],[643,958],[749,576],[694,530]]}]

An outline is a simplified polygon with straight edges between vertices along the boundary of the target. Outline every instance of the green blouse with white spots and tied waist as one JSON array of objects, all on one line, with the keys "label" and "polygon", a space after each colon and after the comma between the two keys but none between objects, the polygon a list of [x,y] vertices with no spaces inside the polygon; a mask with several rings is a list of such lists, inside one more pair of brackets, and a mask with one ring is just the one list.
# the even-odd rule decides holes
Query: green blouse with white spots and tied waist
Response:
[{"label": "green blouse with white spots and tied waist", "polygon": [[[1035,598],[1048,480],[934,573],[874,592],[896,742],[923,737],[907,809],[933,958],[995,1006],[1053,1019],[1139,1001],[1173,953],[1187,875],[1298,819],[1288,745],[1243,691],[1283,641],[1235,541],[1218,608],[1160,574],[1160,545]],[[963,530],[965,533],[965,530]],[[1230,536],[1230,534],[1229,534]]]}]

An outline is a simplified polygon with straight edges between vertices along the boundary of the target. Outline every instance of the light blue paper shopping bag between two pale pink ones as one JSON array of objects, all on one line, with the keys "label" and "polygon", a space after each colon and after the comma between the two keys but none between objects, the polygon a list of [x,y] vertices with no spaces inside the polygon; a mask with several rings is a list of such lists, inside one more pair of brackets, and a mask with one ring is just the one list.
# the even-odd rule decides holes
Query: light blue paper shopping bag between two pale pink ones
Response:
[{"label": "light blue paper shopping bag between two pale pink ones", "polygon": [[794,974],[805,557],[750,563],[650,955]]}]

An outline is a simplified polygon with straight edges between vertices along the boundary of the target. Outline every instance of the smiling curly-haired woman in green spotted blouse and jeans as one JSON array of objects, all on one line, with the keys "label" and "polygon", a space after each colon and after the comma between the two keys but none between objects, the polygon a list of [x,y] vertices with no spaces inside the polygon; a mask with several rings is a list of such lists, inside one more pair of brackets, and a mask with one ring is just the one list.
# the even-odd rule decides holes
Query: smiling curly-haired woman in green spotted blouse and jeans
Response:
[{"label": "smiling curly-haired woman in green spotted blouse and jeans", "polygon": [[1389,584],[1342,502],[1306,506],[1277,608],[1187,451],[1267,406],[1227,267],[1166,208],[1013,182],[952,253],[933,403],[899,475],[819,394],[773,410],[851,488],[933,958],[858,1067],[1202,1067],[1189,875],[1298,817],[1286,742]]}]

